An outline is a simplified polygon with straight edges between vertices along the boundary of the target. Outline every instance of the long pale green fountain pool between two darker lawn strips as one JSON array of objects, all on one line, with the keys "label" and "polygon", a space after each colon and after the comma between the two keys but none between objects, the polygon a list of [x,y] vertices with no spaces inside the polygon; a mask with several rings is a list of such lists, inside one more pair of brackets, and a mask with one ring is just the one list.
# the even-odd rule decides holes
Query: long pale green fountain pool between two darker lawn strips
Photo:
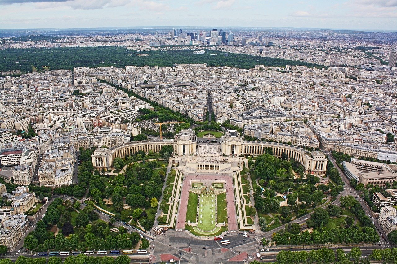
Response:
[{"label": "long pale green fountain pool between two darker lawn strips", "polygon": [[215,199],[216,195],[200,195],[197,227],[200,230],[210,231],[215,228]]}]

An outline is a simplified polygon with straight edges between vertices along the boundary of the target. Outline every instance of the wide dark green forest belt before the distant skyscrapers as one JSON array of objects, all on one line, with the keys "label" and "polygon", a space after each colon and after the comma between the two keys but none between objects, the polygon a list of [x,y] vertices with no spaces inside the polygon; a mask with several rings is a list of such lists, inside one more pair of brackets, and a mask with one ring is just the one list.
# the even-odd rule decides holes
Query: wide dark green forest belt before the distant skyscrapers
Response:
[{"label": "wide dark green forest belt before the distant skyscrapers", "polygon": [[[149,56],[137,56],[137,54]],[[0,50],[0,71],[18,69],[22,73],[30,73],[32,66],[38,67],[38,70],[42,70],[43,66],[51,67],[51,70],[73,70],[74,67],[125,67],[127,65],[172,67],[175,63],[206,63],[207,66],[232,66],[241,69],[250,69],[258,64],[272,67],[285,67],[285,65],[303,65],[319,69],[323,67],[303,61],[234,53],[225,56],[225,54],[225,52],[210,50],[203,55],[193,54],[191,50],[137,52],[124,47],[10,48]]]}]

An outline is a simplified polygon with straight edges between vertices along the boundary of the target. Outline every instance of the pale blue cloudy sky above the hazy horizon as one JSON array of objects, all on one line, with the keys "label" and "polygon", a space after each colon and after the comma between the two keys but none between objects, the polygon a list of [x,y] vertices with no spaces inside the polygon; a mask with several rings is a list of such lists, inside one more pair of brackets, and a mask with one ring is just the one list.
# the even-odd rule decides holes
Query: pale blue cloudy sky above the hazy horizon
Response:
[{"label": "pale blue cloudy sky above the hazy horizon", "polygon": [[0,29],[314,27],[397,31],[397,0],[0,0]]}]

